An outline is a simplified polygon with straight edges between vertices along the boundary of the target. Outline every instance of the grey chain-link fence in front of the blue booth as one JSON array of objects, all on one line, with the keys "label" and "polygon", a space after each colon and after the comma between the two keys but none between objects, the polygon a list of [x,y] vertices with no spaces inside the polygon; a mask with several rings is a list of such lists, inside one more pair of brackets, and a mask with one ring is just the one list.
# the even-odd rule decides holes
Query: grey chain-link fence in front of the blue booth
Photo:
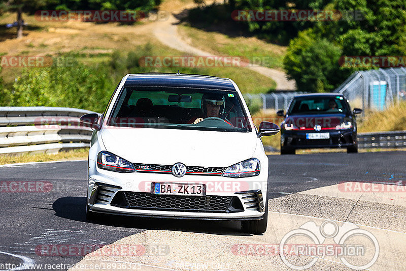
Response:
[{"label": "grey chain-link fence in front of the blue booth", "polygon": [[406,69],[389,68],[353,73],[334,92],[343,93],[352,107],[384,110],[406,99]]}]

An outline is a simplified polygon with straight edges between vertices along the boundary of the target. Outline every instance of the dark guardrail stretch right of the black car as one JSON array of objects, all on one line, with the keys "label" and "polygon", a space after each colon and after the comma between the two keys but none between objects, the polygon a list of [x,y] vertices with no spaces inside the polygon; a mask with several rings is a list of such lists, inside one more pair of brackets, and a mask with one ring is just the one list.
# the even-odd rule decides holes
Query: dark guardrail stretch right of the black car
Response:
[{"label": "dark guardrail stretch right of the black car", "polygon": [[401,148],[406,147],[406,131],[359,133],[360,148]]}]

